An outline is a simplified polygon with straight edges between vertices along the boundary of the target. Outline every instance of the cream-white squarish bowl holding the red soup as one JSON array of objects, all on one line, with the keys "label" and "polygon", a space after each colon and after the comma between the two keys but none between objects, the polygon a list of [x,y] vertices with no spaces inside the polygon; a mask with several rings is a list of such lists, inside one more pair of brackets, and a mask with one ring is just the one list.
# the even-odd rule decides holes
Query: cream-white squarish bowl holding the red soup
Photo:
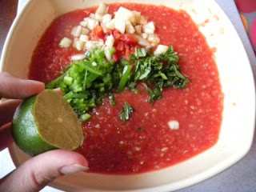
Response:
[{"label": "cream-white squarish bowl holding the red soup", "polygon": [[[15,19],[2,52],[1,70],[27,78],[30,58],[39,38],[50,22],[71,10],[97,6],[101,1],[30,0]],[[105,2],[115,2],[107,0]],[[169,168],[135,175],[80,173],[58,178],[50,183],[61,190],[133,190],[170,191],[202,182],[234,165],[250,150],[254,135],[255,95],[250,62],[238,34],[214,0],[120,0],[170,6],[186,10],[206,36],[210,47],[216,47],[224,98],[223,120],[215,146],[194,158]],[[199,25],[209,19],[206,26]],[[214,34],[214,35],[210,35]],[[28,156],[14,145],[10,147],[14,164],[19,166]]]}]

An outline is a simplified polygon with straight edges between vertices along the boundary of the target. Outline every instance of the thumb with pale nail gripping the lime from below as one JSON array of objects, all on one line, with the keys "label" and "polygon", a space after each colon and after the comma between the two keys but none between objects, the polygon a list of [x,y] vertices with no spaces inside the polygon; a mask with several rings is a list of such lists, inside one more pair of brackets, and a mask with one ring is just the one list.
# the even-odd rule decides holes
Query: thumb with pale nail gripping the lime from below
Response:
[{"label": "thumb with pale nail gripping the lime from below", "polygon": [[63,174],[88,170],[88,162],[81,154],[67,150],[51,150],[39,154],[19,166],[0,181],[0,191],[34,192]]}]

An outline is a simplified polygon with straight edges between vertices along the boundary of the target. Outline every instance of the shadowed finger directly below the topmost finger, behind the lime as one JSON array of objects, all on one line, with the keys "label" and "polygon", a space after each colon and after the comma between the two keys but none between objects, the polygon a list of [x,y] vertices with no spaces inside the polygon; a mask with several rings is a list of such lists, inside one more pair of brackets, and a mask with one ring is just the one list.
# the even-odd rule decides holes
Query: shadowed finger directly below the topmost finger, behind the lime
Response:
[{"label": "shadowed finger directly below the topmost finger, behind the lime", "polygon": [[0,103],[0,127],[12,121],[14,112],[21,103],[22,100],[20,99],[10,99]]}]

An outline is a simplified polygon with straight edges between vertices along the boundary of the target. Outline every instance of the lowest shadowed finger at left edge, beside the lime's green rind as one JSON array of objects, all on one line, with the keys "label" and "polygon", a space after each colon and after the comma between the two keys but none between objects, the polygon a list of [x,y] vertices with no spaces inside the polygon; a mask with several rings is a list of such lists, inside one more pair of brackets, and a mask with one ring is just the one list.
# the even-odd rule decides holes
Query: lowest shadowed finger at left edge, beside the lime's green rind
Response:
[{"label": "lowest shadowed finger at left edge, beside the lime's green rind", "polygon": [[10,144],[14,142],[10,129],[11,123],[7,123],[6,125],[0,127],[0,151],[6,149],[6,147],[10,146]]}]

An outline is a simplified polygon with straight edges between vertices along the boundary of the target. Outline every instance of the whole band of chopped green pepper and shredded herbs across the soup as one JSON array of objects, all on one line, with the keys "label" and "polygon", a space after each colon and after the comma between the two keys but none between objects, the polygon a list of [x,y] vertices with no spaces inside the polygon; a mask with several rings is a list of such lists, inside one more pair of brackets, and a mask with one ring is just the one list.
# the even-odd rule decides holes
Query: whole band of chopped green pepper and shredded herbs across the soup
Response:
[{"label": "whole band of chopped green pepper and shredded herbs across the soup", "polygon": [[[110,54],[114,52],[114,49],[110,50]],[[71,63],[62,72],[60,77],[46,84],[46,88],[59,87],[82,122],[90,118],[87,112],[99,106],[107,95],[110,97],[110,104],[115,105],[114,95],[110,93],[127,88],[138,94],[137,82],[142,82],[150,94],[148,100],[152,103],[162,98],[163,88],[183,89],[189,82],[180,71],[178,54],[172,46],[166,54],[159,56],[136,48],[134,54],[130,55],[130,61],[121,59],[118,63],[109,62],[102,50],[94,49],[86,51],[85,59]],[[126,104],[119,115],[123,121],[133,111],[128,106]]]}]

